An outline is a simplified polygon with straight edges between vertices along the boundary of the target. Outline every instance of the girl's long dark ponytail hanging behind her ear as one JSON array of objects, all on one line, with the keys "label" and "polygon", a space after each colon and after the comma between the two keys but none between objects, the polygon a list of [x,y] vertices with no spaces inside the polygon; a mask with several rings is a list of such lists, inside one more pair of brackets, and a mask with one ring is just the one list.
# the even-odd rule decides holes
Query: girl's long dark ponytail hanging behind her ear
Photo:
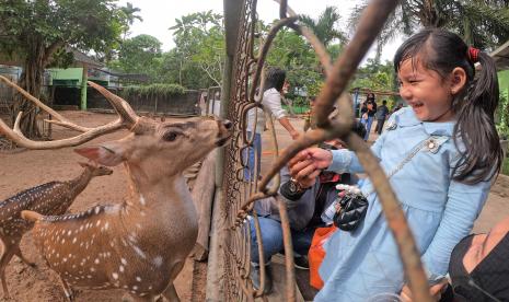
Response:
[{"label": "girl's long dark ponytail hanging behind her ear", "polygon": [[458,148],[461,150],[461,159],[452,173],[453,179],[465,184],[491,179],[499,173],[504,159],[495,128],[495,109],[499,100],[497,70],[494,60],[487,54],[474,54],[474,58],[466,56],[472,67],[472,77],[473,63],[477,59],[482,68],[463,93],[464,97],[453,102],[453,111],[458,118],[454,142],[462,148]]}]

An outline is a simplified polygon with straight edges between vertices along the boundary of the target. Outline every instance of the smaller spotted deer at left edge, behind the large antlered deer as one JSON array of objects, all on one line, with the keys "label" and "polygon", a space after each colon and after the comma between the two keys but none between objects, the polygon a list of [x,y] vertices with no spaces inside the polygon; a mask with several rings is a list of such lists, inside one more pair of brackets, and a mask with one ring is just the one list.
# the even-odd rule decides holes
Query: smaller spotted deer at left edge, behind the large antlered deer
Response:
[{"label": "smaller spotted deer at left edge, behind the large antlered deer", "polygon": [[45,214],[63,214],[93,177],[113,173],[111,169],[105,166],[88,163],[80,163],[80,165],[84,170],[73,179],[50,182],[32,187],[0,202],[0,239],[3,243],[3,251],[0,256],[0,279],[2,280],[5,299],[9,298],[5,267],[12,256],[16,255],[25,264],[35,266],[20,251],[22,236],[34,226],[33,222],[21,218],[21,211],[34,210]]}]

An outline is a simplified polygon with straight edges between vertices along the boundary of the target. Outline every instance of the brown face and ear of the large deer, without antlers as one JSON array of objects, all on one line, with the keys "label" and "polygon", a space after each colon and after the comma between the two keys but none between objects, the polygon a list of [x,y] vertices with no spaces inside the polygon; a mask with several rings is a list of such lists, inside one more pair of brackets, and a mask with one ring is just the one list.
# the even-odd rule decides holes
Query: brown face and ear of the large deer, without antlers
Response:
[{"label": "brown face and ear of the large deer, without antlers", "polygon": [[183,172],[229,137],[230,123],[190,118],[184,123],[158,123],[141,117],[134,132],[96,147],[74,151],[102,165],[127,162],[130,172],[150,171],[144,177],[158,181]]}]

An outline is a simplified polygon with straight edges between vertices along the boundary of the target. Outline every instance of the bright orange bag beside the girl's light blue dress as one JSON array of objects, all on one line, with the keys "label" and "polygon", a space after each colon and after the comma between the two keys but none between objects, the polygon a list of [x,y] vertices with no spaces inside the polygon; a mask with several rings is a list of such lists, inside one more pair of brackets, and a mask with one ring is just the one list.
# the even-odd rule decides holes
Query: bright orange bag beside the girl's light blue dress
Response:
[{"label": "bright orange bag beside the girl's light blue dress", "polygon": [[314,231],[313,240],[311,241],[310,252],[308,259],[310,263],[310,284],[315,289],[323,288],[323,280],[320,278],[319,268],[325,257],[325,249],[323,245],[336,232],[337,228],[332,224],[326,228],[317,228]]}]

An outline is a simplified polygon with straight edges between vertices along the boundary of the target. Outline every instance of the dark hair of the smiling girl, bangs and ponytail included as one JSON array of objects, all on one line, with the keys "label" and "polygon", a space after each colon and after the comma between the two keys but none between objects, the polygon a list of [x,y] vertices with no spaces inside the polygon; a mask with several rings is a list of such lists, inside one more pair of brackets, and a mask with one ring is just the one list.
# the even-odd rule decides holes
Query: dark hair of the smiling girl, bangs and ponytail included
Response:
[{"label": "dark hair of the smiling girl, bangs and ponytail included", "polygon": [[[455,114],[453,139],[460,150],[460,161],[452,170],[454,181],[476,184],[488,181],[500,171],[502,151],[494,115],[498,105],[498,78],[495,62],[485,53],[478,53],[482,66],[475,76],[468,47],[456,35],[443,30],[424,30],[405,43],[394,56],[396,73],[403,61],[419,60],[423,67],[446,79],[456,67],[466,73],[466,83],[452,100]],[[460,148],[459,141],[462,147]]]}]

